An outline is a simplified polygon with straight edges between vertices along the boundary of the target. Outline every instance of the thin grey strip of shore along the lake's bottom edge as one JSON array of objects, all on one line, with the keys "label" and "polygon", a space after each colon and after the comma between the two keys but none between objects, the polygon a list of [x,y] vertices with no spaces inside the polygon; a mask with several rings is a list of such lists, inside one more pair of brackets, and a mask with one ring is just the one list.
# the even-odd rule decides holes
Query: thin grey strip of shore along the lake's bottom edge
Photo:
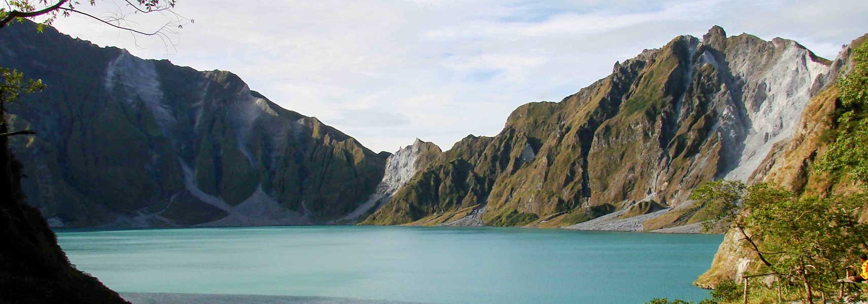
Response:
[{"label": "thin grey strip of shore along the lake's bottom edge", "polygon": [[133,304],[422,304],[347,298],[257,294],[163,294],[121,293]]}]

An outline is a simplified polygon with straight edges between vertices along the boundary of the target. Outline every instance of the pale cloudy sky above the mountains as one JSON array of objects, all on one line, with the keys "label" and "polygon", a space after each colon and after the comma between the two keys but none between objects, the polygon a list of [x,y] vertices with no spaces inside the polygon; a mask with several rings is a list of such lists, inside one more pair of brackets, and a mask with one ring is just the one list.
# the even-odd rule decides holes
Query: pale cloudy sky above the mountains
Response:
[{"label": "pale cloudy sky above the mountains", "polygon": [[[108,16],[122,3],[81,8]],[[865,0],[179,0],[174,11],[194,23],[168,48],[83,16],[55,26],[142,58],[232,71],[374,152],[417,138],[447,150],[468,134],[496,135],[516,107],[560,101],[615,61],[713,25],[792,39],[828,59],[868,32]],[[148,30],[169,18],[128,20]]]}]

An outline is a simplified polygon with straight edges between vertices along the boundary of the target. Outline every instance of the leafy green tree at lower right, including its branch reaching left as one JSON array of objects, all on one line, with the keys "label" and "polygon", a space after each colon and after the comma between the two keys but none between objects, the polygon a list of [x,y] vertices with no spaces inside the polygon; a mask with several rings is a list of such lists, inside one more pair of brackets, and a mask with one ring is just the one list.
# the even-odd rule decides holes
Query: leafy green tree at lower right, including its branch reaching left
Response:
[{"label": "leafy green tree at lower right, including its branch reaching left", "polygon": [[858,218],[863,194],[799,197],[769,184],[720,180],[692,198],[720,210],[711,221],[732,223],[763,262],[760,271],[803,284],[807,303],[816,290],[833,286],[868,241],[868,225]]}]

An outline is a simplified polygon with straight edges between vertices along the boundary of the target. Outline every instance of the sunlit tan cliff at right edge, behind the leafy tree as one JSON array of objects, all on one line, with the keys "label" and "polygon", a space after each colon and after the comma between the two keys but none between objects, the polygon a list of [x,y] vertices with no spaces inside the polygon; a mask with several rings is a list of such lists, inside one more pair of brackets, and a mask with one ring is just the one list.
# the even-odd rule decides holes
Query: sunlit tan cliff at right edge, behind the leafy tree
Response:
[{"label": "sunlit tan cliff at right edge, behind the leafy tree", "polygon": [[[831,143],[827,134],[834,130],[835,110],[838,108],[838,88],[835,81],[852,65],[852,51],[868,41],[868,35],[852,41],[832,61],[831,69],[822,75],[790,139],[775,145],[756,171],[749,184],[765,182],[783,187],[801,195],[827,196],[857,191],[852,180],[838,175],[814,171],[814,162],[822,158]],[[739,280],[740,275],[759,267],[756,254],[747,249],[734,230],[729,231],[716,255],[712,267],[696,281],[702,287],[712,288],[721,280]]]}]

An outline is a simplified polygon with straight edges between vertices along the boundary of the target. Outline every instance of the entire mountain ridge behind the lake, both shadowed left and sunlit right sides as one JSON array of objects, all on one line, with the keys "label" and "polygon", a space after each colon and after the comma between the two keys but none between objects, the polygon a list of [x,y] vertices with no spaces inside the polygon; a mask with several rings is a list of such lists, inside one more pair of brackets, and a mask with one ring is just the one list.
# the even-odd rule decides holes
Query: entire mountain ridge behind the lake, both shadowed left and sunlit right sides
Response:
[{"label": "entire mountain ridge behind the lake, both shadowed left and sunlit right sides", "polygon": [[[87,83],[67,86],[60,81],[69,71],[46,69],[63,64],[33,61],[23,69],[36,70],[33,77],[55,73],[47,79],[51,97],[95,95],[108,113],[69,100],[59,111],[35,99],[10,108],[16,128],[49,130],[12,146],[25,163],[38,164],[25,168],[34,177],[25,191],[55,227],[360,222],[580,229],[619,210],[626,215],[617,220],[654,217],[616,230],[697,223],[702,206],[689,204],[690,190],[715,178],[746,180],[765,165],[794,132],[793,117],[825,87],[820,75],[832,64],[798,42],[727,36],[714,26],[701,38],[676,36],[617,61],[612,74],[560,102],[517,107],[494,136],[468,135],[447,151],[417,139],[393,155],[277,106],[231,72],[97,49],[99,64],[85,66],[94,72],[79,77]],[[16,52],[3,47],[0,61]],[[51,82],[62,84],[61,93]],[[85,120],[110,121],[114,130],[52,133],[65,130],[59,126],[87,129]],[[105,136],[112,140],[100,141]],[[111,144],[125,140],[134,145]],[[137,155],[134,165],[129,154]],[[89,166],[107,160],[121,168]],[[151,180],[113,185],[136,175],[126,167],[150,172]],[[88,183],[126,198],[95,204],[90,197],[106,193],[86,191]],[[57,202],[57,193],[70,202]]]}]

